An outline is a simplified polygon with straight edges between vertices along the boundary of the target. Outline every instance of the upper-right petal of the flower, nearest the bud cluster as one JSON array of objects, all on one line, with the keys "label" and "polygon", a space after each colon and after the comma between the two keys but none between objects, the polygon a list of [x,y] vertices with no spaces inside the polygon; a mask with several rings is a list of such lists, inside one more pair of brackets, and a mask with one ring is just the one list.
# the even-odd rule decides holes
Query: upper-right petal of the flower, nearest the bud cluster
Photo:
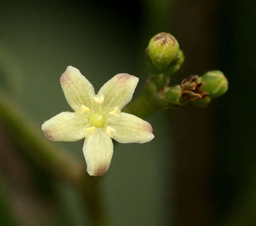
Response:
[{"label": "upper-right petal of the flower, nearest the bud cluster", "polygon": [[119,73],[108,80],[98,92],[98,96],[103,95],[103,110],[112,110],[115,107],[122,109],[132,99],[132,94],[136,88],[139,78],[127,73]]}]

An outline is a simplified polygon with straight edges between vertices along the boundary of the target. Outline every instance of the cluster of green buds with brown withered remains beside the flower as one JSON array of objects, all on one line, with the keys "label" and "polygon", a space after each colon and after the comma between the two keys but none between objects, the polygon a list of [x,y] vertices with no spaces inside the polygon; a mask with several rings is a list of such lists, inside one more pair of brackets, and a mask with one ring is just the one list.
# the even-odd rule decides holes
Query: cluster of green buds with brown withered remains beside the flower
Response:
[{"label": "cluster of green buds with brown withered remains beside the flower", "polygon": [[159,33],[149,41],[146,59],[150,77],[147,90],[150,99],[162,106],[192,104],[204,107],[228,90],[228,80],[217,70],[201,77],[190,75],[180,85],[168,87],[173,73],[182,66],[184,55],[178,41],[169,33]]}]

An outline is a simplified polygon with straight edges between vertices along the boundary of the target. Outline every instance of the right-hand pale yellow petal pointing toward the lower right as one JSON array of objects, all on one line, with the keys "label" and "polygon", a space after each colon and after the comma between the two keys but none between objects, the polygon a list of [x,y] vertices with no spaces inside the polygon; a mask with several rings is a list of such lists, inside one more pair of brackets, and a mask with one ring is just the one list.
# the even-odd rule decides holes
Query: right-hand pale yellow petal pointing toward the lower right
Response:
[{"label": "right-hand pale yellow petal pointing toward the lower right", "polygon": [[120,143],[146,143],[154,138],[151,124],[131,114],[109,117],[106,124],[114,129],[112,138]]}]

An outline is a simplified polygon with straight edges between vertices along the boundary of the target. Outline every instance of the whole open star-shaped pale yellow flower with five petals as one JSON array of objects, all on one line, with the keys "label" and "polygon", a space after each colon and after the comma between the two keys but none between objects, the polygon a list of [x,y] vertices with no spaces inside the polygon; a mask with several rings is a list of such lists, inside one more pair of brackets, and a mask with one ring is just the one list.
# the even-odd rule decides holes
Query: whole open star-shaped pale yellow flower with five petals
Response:
[{"label": "whole open star-shaped pale yellow flower with five petals", "polygon": [[85,137],[83,153],[89,175],[103,175],[113,154],[112,139],[119,143],[145,143],[154,138],[151,125],[120,110],[132,99],[139,78],[119,73],[98,94],[77,68],[67,67],[61,87],[75,112],[61,112],[42,124],[52,141],[78,141]]}]

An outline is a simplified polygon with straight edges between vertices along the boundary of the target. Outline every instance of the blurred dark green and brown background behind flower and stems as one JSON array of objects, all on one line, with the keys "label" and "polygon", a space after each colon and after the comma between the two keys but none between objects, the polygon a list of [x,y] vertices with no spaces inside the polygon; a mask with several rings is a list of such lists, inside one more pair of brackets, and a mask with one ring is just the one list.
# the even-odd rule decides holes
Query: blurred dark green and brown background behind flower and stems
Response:
[{"label": "blurred dark green and brown background behind flower and stems", "polygon": [[[148,41],[172,33],[185,53],[173,83],[218,69],[230,89],[207,109],[149,117],[150,143],[117,145],[103,177],[105,211],[112,225],[255,225],[255,21],[249,0],[3,1],[0,86],[40,130],[69,109],[59,84],[68,65],[96,90],[116,73],[136,75],[137,96]],[[35,180],[2,120],[1,225],[88,223],[73,188]],[[57,144],[84,158],[83,141]]]}]

